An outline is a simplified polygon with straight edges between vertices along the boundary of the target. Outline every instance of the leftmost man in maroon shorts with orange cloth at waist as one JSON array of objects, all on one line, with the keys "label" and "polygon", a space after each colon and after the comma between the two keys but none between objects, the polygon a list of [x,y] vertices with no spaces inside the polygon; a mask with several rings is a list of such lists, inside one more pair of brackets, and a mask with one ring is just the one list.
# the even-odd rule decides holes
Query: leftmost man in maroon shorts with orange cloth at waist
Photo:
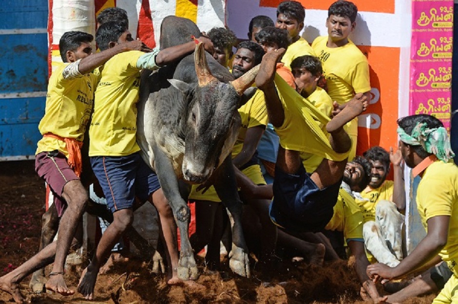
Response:
[{"label": "leftmost man in maroon shorts with orange cloth at waist", "polygon": [[63,273],[68,250],[88,200],[79,176],[80,148],[94,102],[96,77],[92,71],[115,54],[143,47],[141,41],[135,41],[92,55],[93,39],[90,34],[75,31],[64,33],[59,41],[63,64],[49,79],[45,114],[38,125],[43,138],[38,141],[35,157],[35,170],[53,192],[61,216],[59,238],[1,278],[1,289],[11,293],[17,303],[23,301],[19,282],[35,269],[53,262],[54,255],[46,288],[62,295],[74,293],[65,284]]}]

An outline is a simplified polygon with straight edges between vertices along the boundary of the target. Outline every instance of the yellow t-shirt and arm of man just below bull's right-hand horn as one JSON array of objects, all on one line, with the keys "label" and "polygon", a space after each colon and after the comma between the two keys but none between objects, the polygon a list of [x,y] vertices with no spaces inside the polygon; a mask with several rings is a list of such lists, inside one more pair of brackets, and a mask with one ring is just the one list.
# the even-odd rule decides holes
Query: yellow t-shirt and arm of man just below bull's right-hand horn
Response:
[{"label": "yellow t-shirt and arm of man just below bull's right-hand horn", "polygon": [[258,125],[266,127],[268,123],[264,92],[257,89],[253,97],[251,97],[245,105],[239,108],[239,114],[242,118],[242,126],[239,129],[237,141],[232,148],[232,158],[236,157],[242,151],[248,128]]}]

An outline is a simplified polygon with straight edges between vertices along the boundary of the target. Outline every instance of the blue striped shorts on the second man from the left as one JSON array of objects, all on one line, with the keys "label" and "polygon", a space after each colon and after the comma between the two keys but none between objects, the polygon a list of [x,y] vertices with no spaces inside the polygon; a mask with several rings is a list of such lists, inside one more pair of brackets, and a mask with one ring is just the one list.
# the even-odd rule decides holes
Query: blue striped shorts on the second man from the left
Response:
[{"label": "blue striped shorts on the second man from the left", "polygon": [[135,197],[144,203],[161,187],[156,173],[139,152],[128,156],[93,156],[91,165],[113,213],[133,209]]}]

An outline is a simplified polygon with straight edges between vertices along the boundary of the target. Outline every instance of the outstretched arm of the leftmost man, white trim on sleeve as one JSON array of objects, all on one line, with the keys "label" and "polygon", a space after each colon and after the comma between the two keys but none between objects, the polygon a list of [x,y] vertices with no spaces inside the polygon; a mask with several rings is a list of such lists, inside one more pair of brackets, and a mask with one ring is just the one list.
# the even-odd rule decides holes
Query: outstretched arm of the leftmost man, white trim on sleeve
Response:
[{"label": "outstretched arm of the leftmost man, white trim on sleeve", "polygon": [[127,51],[147,51],[149,48],[140,40],[129,41],[115,45],[113,48],[91,54],[83,59],[79,59],[69,64],[62,72],[64,79],[75,79],[84,74],[94,71],[95,68],[107,62],[116,54]]}]

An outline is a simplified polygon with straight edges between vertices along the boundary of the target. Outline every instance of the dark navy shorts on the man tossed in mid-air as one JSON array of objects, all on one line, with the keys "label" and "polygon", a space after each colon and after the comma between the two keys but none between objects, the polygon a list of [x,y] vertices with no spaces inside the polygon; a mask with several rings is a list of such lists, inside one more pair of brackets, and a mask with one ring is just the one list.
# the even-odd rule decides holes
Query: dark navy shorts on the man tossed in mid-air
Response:
[{"label": "dark navy shorts on the man tossed in mid-air", "polygon": [[270,218],[293,232],[323,231],[334,215],[340,184],[341,181],[320,190],[304,166],[296,174],[287,174],[277,166]]}]

